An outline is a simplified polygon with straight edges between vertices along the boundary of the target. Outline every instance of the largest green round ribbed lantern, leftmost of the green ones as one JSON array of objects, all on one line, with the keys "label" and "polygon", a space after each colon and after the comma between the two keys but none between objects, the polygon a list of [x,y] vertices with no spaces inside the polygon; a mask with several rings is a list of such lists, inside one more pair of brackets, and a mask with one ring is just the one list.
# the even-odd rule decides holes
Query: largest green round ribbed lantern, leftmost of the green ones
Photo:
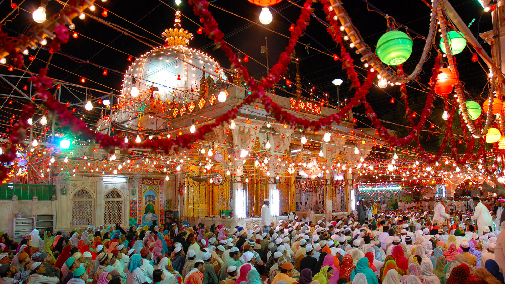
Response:
[{"label": "largest green round ribbed lantern, leftmost of the green ones", "polygon": [[387,65],[400,65],[412,53],[412,39],[399,30],[388,31],[377,42],[377,56]]}]

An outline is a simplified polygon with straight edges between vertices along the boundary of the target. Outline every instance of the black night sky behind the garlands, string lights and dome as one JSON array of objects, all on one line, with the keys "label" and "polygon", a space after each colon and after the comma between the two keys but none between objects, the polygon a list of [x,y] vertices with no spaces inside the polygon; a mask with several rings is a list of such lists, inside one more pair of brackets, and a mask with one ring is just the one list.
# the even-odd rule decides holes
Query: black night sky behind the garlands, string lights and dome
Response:
[{"label": "black night sky behind the garlands, string lights and dome", "polygon": [[[14,0],[14,2],[19,4],[20,0]],[[294,2],[299,5],[304,3],[302,0]],[[424,36],[428,34],[430,10],[421,0],[372,0],[369,3],[376,6],[376,8],[380,9],[383,13],[394,17],[397,22],[407,25],[409,30],[415,31]],[[451,1],[451,3],[458,13],[460,13],[460,16],[465,23],[469,24],[472,19],[475,19],[475,22],[470,27],[474,35],[477,36],[478,33],[491,29],[491,13],[483,12],[482,7],[479,5],[477,0]],[[31,12],[38,7],[38,4],[39,2],[36,0],[24,1],[21,8],[29,12],[20,10],[19,15],[17,15],[14,20],[12,20],[13,15],[11,15],[8,18],[9,21],[4,23],[5,26],[3,26],[3,29],[9,32],[10,35],[17,36],[20,33],[27,32],[34,25],[37,25],[32,20]],[[95,12],[90,12],[89,10],[86,12],[92,13],[99,18],[103,18],[114,25],[128,29],[135,34],[138,34],[137,37],[141,38],[142,41],[150,44],[162,45],[163,39],[161,38],[161,33],[165,29],[173,27],[175,11],[172,8],[176,8],[173,0],[108,0],[106,3],[97,1],[96,4],[109,10],[109,16],[107,18],[100,15],[103,11],[103,8],[100,7],[97,7]],[[250,4],[246,0],[215,0],[212,4],[233,14],[237,14],[238,16],[259,23],[258,16],[261,12],[261,7]],[[375,51],[377,40],[387,29],[386,19],[377,12],[367,11],[366,0],[345,0],[343,5],[354,25],[360,30],[361,35],[372,47],[372,50]],[[61,9],[61,7],[62,5],[56,1],[50,1],[46,8],[47,17],[49,18],[49,15],[55,13]],[[321,11],[322,5],[320,3],[315,3],[313,7],[315,8],[316,15],[320,19],[324,20],[325,15]],[[183,3],[180,5],[180,9],[184,16],[198,22],[198,18],[193,14],[192,7],[186,0],[183,0]],[[370,7],[370,9],[372,8]],[[1,18],[4,18],[10,11],[10,2],[0,0]],[[266,57],[264,54],[260,53],[261,46],[265,45],[265,37],[268,37],[270,67],[277,62],[279,54],[284,50],[285,45],[287,44],[286,37],[282,37],[268,31],[264,27],[284,35],[289,35],[288,28],[291,23],[294,23],[298,18],[300,9],[287,1],[282,1],[281,3],[271,7],[273,22],[267,26],[248,22],[217,8],[212,8],[211,12],[217,19],[219,27],[225,33],[225,39],[235,46],[235,48],[239,49],[242,53],[247,54],[249,58],[251,58],[248,63],[245,63],[245,65],[247,66],[249,73],[259,79],[266,75],[266,68],[254,62],[252,58],[266,65]],[[15,12],[14,15],[15,14],[17,14],[17,12]],[[194,35],[194,39],[190,42],[189,47],[206,52],[213,56],[223,67],[229,67],[230,64],[224,53],[220,50],[213,51],[211,40],[205,37],[205,35],[197,34],[196,31],[198,29],[198,25],[191,22],[186,17],[182,18],[182,27],[189,30]],[[121,87],[123,74],[113,70],[124,72],[131,64],[131,62],[127,61],[128,55],[138,57],[149,51],[151,47],[130,36],[124,35],[111,27],[99,23],[90,17],[87,17],[83,21],[76,18],[74,23],[77,26],[75,31],[81,35],[75,39],[71,38],[69,43],[63,45],[61,54],[55,54],[53,56],[51,64],[56,66],[49,66],[49,76],[57,80],[64,80],[77,84],[80,84],[80,78],[84,76],[88,79],[88,81],[83,84],[85,87],[92,87],[103,91],[116,90],[115,93],[118,93],[117,90]],[[132,23],[141,28],[134,26]],[[437,46],[440,40],[439,34],[440,33],[437,33],[436,35]],[[413,33],[411,33],[411,35],[413,35]],[[93,40],[88,39],[85,36],[92,38]],[[300,38],[300,41],[305,44],[310,44],[311,47],[328,54],[337,52],[335,43],[326,32],[326,27],[314,18],[311,19],[310,26],[308,27],[306,34]],[[404,64],[404,68],[407,73],[412,72],[415,68],[422,53],[424,42],[425,41],[423,39],[414,39],[412,56]],[[105,46],[102,43],[107,44],[110,47]],[[481,44],[483,44],[488,54],[490,54],[489,45],[483,43],[482,40]],[[115,49],[121,52],[116,51]],[[348,51],[355,59],[355,63],[362,67],[363,65],[359,61],[360,57],[354,53],[355,49],[349,48]],[[30,55],[35,55],[35,53],[36,51],[30,50]],[[339,53],[337,54],[339,55]],[[300,74],[303,78],[302,84],[304,89],[309,90],[315,86],[315,96],[322,96],[324,93],[328,93],[330,103],[335,103],[336,87],[331,83],[331,81],[335,78],[341,78],[344,82],[340,86],[340,99],[343,100],[346,97],[354,95],[354,90],[349,89],[350,84],[346,79],[345,73],[341,71],[340,62],[335,62],[330,56],[321,54],[313,49],[305,49],[304,46],[296,47],[296,56],[299,58]],[[426,61],[423,67],[420,81],[424,84],[427,84],[431,76],[431,68],[433,67],[433,59],[435,56],[436,52],[432,50],[429,60]],[[478,89],[480,92],[487,82],[486,73],[477,62],[472,62],[470,60],[471,57],[472,53],[468,49],[468,45],[461,54],[456,56],[459,63],[458,68],[461,80],[465,82],[467,89]],[[48,58],[48,51],[43,49],[40,50],[38,52],[37,59],[30,66],[30,71],[38,72],[39,68],[45,66],[44,62],[47,61]],[[82,61],[89,63],[83,64],[81,63]],[[102,75],[103,69],[101,67],[110,69],[108,71],[108,76]],[[292,81],[294,81],[295,70],[295,65],[290,64],[288,77]],[[365,74],[363,70],[357,70],[361,74]],[[17,71],[10,72],[7,70],[7,67],[0,67],[0,73],[21,74]],[[91,80],[96,81],[97,83],[93,83]],[[282,87],[284,82],[284,80],[281,80],[278,85]],[[26,82],[23,81],[20,84],[25,83]],[[413,86],[419,87],[417,84],[414,84]],[[9,93],[12,89],[5,84],[5,82],[0,82],[0,87],[2,87],[0,92],[4,94]],[[294,92],[294,87],[286,86],[286,90]],[[416,89],[409,87],[408,91],[409,96],[414,101],[418,96],[421,96],[421,92]],[[278,91],[277,93],[282,96],[289,96],[288,94],[283,94],[282,91]],[[304,92],[304,95],[308,95],[308,93]],[[391,103],[389,103],[391,96],[398,100],[399,90],[397,87],[387,87],[382,90],[374,86],[368,94],[367,100],[381,116],[389,112],[392,106]],[[82,95],[82,99],[84,100],[84,95]],[[76,98],[70,97],[68,94],[64,94],[62,101],[66,102],[67,100],[71,101],[71,103],[77,103]],[[437,100],[441,99],[438,98]],[[84,108],[82,106],[80,110],[82,111],[83,109]],[[6,111],[12,112],[12,110]],[[364,110],[360,107],[356,108],[354,111],[357,113],[364,113]],[[359,116],[357,118],[360,123],[362,123],[362,126],[369,124],[369,121],[366,118]]]}]

